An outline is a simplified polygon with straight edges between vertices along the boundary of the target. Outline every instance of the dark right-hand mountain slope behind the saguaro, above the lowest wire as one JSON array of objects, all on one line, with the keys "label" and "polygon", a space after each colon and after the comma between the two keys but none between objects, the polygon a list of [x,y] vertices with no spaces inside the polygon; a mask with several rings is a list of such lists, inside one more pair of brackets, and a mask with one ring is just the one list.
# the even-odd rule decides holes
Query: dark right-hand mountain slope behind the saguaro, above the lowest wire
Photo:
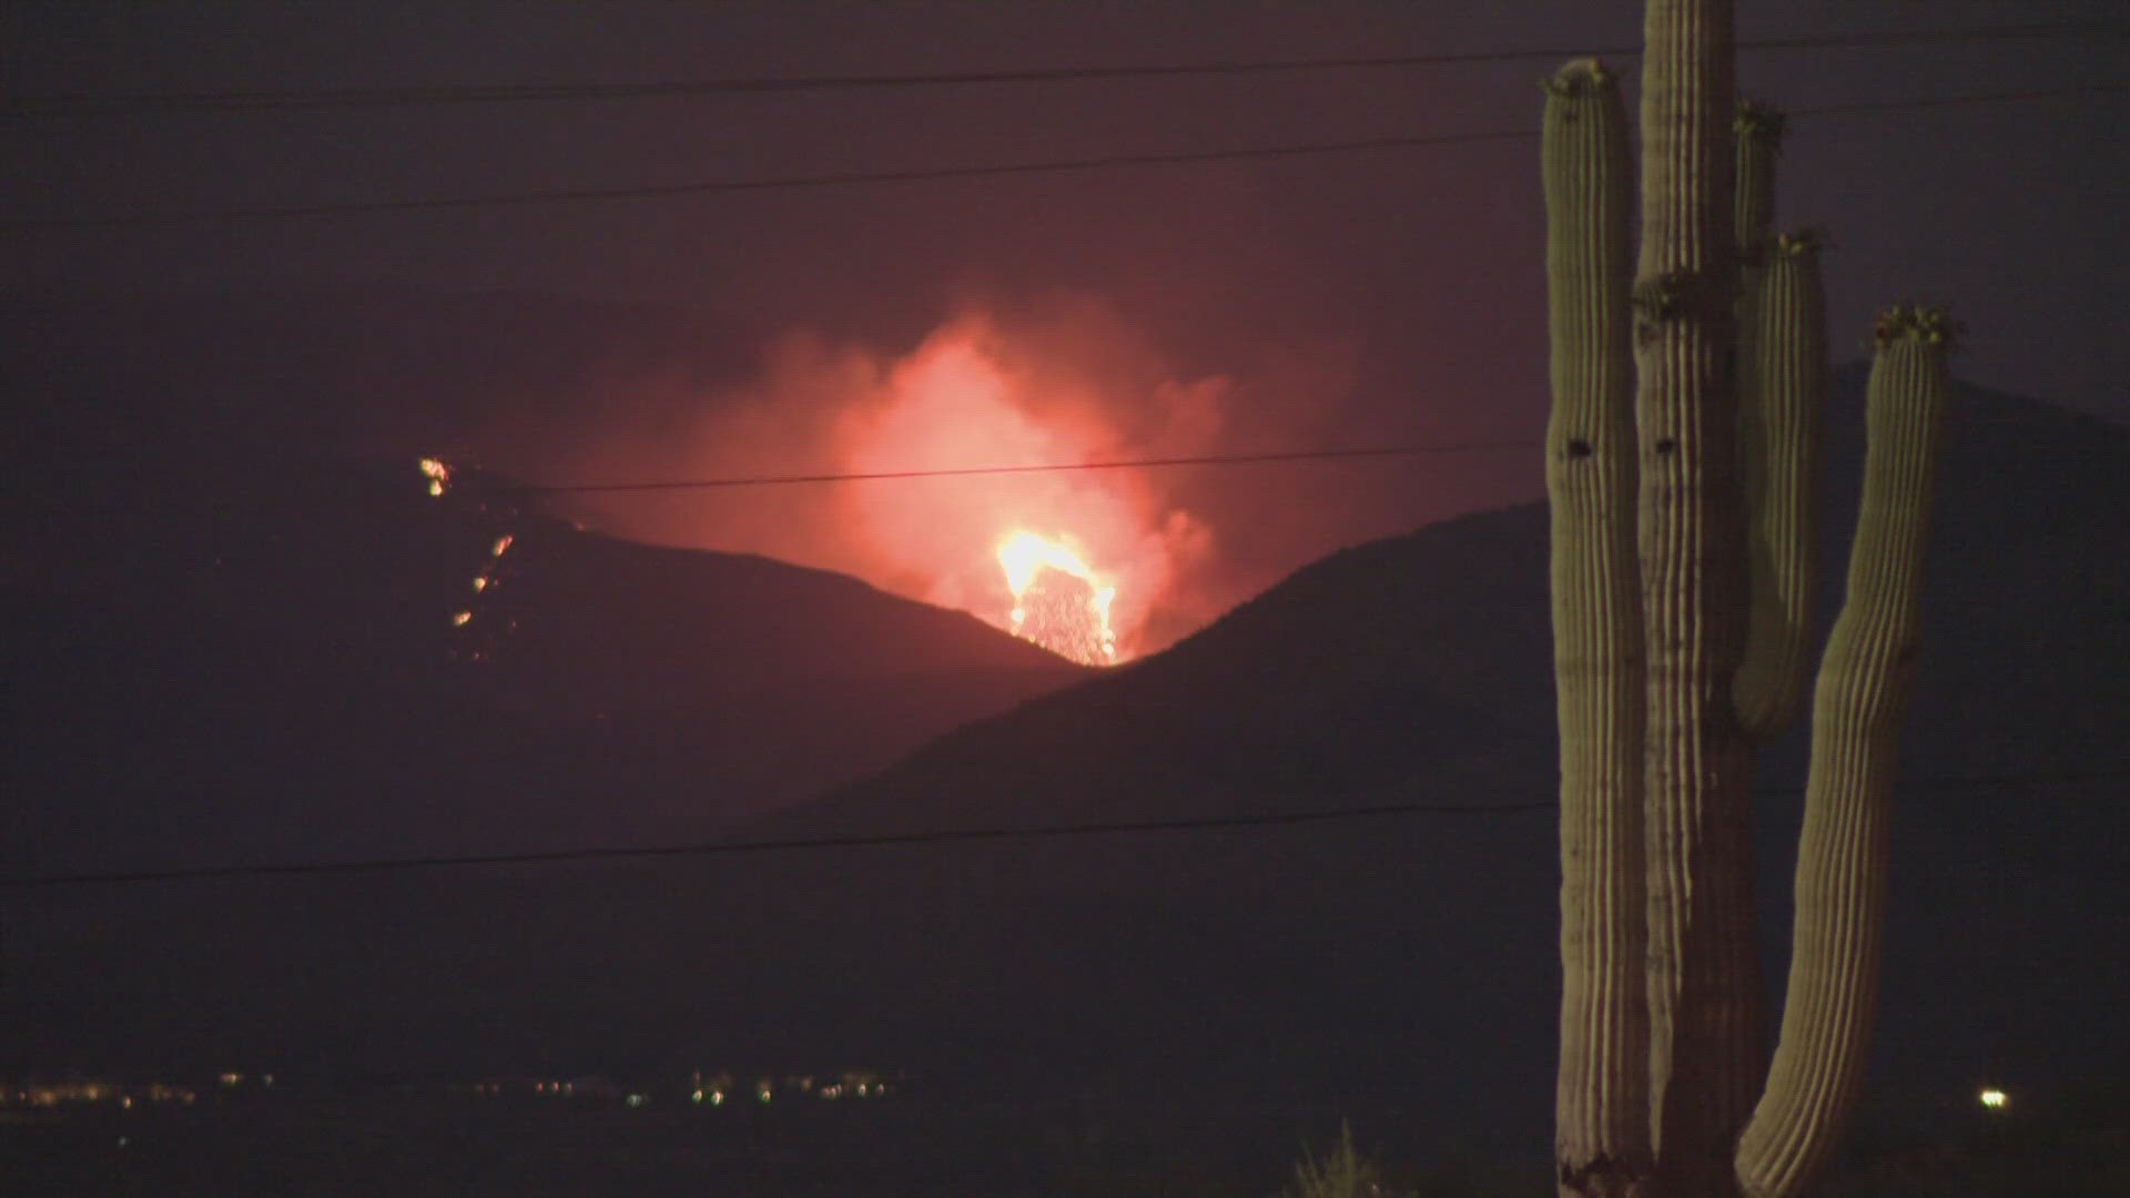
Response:
[{"label": "dark right-hand mountain slope behind the saguaro, above the lowest wire", "polygon": [[[1862,373],[1842,371],[1823,471],[1823,620],[1855,522],[1859,392]],[[2124,467],[2121,428],[1960,392],[1911,774],[2085,772],[2107,755],[2130,693],[2111,657],[2130,644]],[[1342,550],[1165,654],[956,729],[826,795],[805,823],[1056,823],[1140,812],[1148,793],[1176,814],[1389,789],[1455,799],[1444,770],[1491,782],[1474,802],[1529,797],[1527,778],[1553,770],[1544,522],[1534,503]],[[1802,733],[1774,746],[1770,780],[1798,780],[1798,748]]]}]

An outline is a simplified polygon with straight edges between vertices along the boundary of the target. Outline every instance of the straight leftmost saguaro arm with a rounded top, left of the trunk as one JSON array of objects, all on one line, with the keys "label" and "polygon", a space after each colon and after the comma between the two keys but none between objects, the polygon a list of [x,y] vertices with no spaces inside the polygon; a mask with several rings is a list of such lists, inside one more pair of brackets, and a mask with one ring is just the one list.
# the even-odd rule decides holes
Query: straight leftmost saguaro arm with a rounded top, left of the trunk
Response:
[{"label": "straight leftmost saguaro arm with a rounded top, left of the trunk", "polygon": [[1651,1172],[1642,998],[1642,593],[1634,556],[1634,168],[1619,83],[1595,60],[1546,81],[1540,164],[1553,414],[1553,676],[1561,735],[1563,1198]]}]

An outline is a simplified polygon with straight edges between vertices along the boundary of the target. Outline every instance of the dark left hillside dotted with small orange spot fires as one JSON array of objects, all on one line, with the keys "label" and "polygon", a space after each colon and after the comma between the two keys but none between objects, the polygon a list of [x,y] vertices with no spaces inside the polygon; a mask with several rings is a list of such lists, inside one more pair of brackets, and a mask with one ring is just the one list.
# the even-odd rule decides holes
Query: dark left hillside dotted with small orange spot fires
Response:
[{"label": "dark left hillside dotted with small orange spot fires", "polygon": [[236,460],[23,512],[13,872],[705,838],[1082,676],[503,484]]}]

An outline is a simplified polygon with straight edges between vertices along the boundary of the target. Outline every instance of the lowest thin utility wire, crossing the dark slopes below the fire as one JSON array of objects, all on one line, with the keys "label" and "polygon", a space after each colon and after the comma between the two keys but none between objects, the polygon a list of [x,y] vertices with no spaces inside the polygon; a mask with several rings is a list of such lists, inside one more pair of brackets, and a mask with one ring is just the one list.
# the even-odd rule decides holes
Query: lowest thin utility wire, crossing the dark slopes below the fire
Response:
[{"label": "lowest thin utility wire, crossing the dark slopes below the fire", "polygon": [[[2064,774],[1987,774],[1968,778],[1913,778],[1896,782],[1898,791],[1951,791],[1951,789],[2000,789],[2021,784],[2119,780],[2130,772],[2064,772]],[[1764,787],[1759,795],[1798,795],[1802,787]],[[1078,836],[1137,836],[1163,831],[1235,831],[1252,827],[1295,827],[1308,823],[1331,823],[1344,819],[1374,819],[1393,814],[1531,814],[1555,810],[1553,799],[1525,799],[1506,804],[1363,804],[1346,808],[1233,814],[1233,816],[1191,816],[1152,821],[1097,821],[1056,823],[1033,827],[958,827],[937,831],[884,831],[856,836],[792,836],[775,840],[709,840],[697,844],[645,844],[605,848],[552,848],[541,853],[475,853],[437,857],[371,857],[356,861],[288,861],[268,865],[187,865],[170,870],[117,870],[102,874],[45,874],[28,878],[0,878],[0,889],[62,889],[89,885],[128,883],[194,883],[215,878],[281,878],[315,874],[381,874],[396,870],[445,870],[471,865],[564,865],[586,861],[628,861],[648,857],[722,857],[733,853],[794,853],[820,848],[907,848],[927,844],[967,844],[982,840],[1056,840]]]}]

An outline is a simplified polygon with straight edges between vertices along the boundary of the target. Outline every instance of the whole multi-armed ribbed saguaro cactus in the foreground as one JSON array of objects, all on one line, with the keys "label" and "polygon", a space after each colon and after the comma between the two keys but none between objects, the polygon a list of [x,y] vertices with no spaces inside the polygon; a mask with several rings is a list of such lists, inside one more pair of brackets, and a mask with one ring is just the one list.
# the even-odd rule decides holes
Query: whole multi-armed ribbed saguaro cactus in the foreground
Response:
[{"label": "whole multi-armed ribbed saguaro cactus in the foreground", "polygon": [[1563,1196],[1798,1194],[1853,1102],[1877,987],[1947,322],[1881,322],[1768,1072],[1749,735],[1802,697],[1825,335],[1817,239],[1768,237],[1781,122],[1732,119],[1730,28],[1725,0],[1649,2],[1632,286],[1615,83],[1578,60],[1546,87]]}]

